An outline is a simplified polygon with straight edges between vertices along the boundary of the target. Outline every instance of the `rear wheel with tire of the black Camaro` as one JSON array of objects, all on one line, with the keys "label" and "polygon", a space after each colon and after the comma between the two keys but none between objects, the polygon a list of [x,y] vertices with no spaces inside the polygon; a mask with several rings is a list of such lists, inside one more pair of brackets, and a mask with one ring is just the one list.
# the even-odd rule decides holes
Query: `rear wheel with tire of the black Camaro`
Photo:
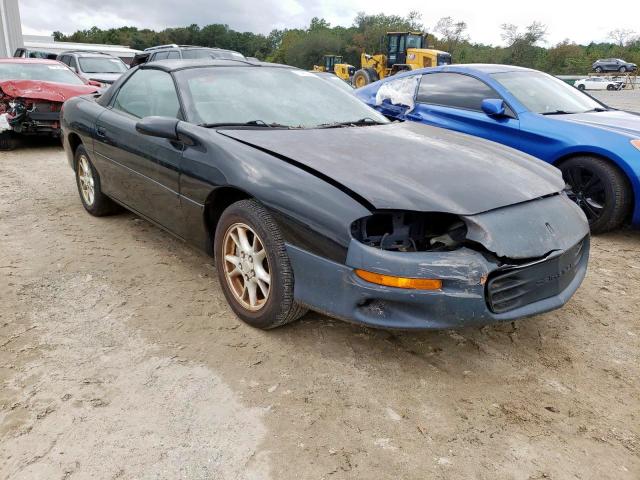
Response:
[{"label": "rear wheel with tire of the black Camaro", "polygon": [[119,206],[102,193],[100,176],[94,168],[83,145],[76,149],[76,185],[84,209],[94,217],[111,215],[119,210]]}]

